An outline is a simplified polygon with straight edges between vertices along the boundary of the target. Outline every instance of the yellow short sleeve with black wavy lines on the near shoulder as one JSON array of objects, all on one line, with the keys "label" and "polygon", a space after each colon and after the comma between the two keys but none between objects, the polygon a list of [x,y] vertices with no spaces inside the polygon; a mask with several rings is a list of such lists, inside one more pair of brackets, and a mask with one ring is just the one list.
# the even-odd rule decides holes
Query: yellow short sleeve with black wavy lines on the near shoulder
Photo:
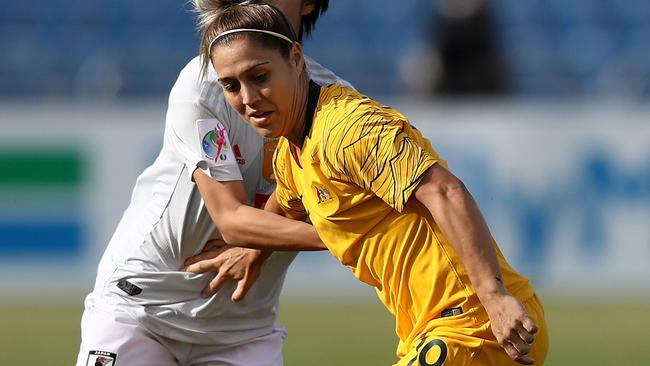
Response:
[{"label": "yellow short sleeve with black wavy lines on the near shoulder", "polygon": [[362,118],[336,130],[330,136],[336,143],[327,144],[334,169],[399,212],[439,160],[429,141],[405,120]]}]

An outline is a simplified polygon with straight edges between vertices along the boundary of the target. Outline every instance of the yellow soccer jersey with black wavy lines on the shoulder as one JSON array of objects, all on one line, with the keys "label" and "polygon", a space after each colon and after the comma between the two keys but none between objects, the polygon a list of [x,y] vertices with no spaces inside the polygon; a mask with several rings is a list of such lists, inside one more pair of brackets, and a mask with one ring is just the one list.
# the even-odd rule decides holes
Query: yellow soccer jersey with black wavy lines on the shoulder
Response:
[{"label": "yellow soccer jersey with black wavy lines on the shoulder", "polygon": [[[487,320],[455,250],[424,205],[409,200],[427,169],[446,163],[396,110],[338,84],[318,88],[310,85],[302,164],[279,141],[278,203],[307,210],[332,254],[376,288],[396,317],[398,356],[443,317]],[[508,289],[532,296],[497,254]]]}]

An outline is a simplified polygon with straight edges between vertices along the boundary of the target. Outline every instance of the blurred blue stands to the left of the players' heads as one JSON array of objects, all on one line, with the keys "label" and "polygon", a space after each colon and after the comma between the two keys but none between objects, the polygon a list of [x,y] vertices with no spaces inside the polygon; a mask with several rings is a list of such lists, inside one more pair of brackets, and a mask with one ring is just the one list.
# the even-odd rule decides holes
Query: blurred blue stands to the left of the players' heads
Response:
[{"label": "blurred blue stands to the left of the players' heads", "polygon": [[183,0],[0,0],[3,97],[149,97],[198,52]]}]

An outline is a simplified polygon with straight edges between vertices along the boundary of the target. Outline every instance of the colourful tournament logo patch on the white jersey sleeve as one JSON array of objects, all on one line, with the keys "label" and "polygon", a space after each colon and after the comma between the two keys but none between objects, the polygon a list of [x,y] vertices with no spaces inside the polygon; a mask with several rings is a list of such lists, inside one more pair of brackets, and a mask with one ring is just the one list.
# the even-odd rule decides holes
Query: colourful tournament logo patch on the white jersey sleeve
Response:
[{"label": "colourful tournament logo patch on the white jersey sleeve", "polygon": [[228,130],[216,119],[200,119],[196,128],[201,144],[201,155],[209,166],[237,165]]}]

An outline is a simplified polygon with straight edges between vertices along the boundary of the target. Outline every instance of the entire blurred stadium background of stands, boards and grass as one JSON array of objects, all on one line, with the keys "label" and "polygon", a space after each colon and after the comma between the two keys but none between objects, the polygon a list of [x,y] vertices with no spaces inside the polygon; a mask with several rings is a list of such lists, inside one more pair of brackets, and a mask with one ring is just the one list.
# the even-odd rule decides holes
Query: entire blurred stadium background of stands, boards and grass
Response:
[{"label": "entire blurred stadium background of stands, boards and grass", "polygon": [[[546,303],[547,364],[648,365],[649,40],[648,0],[332,0],[306,50],[466,182]],[[0,365],[72,364],[197,43],[181,0],[0,0]],[[325,253],[281,314],[288,365],[394,361],[390,317]]]}]

